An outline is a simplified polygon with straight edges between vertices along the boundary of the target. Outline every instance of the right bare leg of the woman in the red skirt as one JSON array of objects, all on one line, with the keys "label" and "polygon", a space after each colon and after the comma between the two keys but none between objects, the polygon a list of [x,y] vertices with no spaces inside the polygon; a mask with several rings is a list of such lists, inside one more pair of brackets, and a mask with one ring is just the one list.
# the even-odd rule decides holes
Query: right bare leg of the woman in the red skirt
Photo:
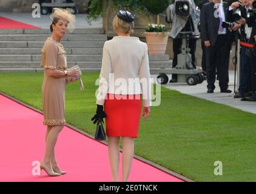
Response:
[{"label": "right bare leg of the woman in the red skirt", "polygon": [[129,178],[133,155],[134,138],[123,137],[123,182],[126,182]]}]

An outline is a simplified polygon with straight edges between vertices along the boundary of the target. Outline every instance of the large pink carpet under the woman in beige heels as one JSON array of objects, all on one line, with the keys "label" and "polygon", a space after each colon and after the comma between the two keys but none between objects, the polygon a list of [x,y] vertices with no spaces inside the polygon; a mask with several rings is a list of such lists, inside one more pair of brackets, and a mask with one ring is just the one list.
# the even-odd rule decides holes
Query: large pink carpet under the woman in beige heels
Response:
[{"label": "large pink carpet under the woman in beige heels", "polygon": [[[111,181],[107,146],[69,127],[64,127],[56,145],[59,165],[68,173],[32,175],[32,162],[44,155],[44,135],[40,113],[0,95],[0,181]],[[129,181],[181,180],[133,159]]]}]

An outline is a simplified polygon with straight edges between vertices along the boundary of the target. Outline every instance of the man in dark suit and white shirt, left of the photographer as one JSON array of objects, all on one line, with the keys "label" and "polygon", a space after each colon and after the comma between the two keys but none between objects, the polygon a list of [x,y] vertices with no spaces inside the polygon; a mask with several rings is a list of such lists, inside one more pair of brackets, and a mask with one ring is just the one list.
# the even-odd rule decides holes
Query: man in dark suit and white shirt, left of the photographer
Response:
[{"label": "man in dark suit and white shirt, left of the photographer", "polygon": [[230,30],[238,30],[240,25],[233,23],[232,29],[222,27],[223,21],[231,21],[232,11],[229,12],[229,6],[221,0],[204,4],[201,12],[201,39],[206,46],[207,93],[214,92],[216,69],[220,91],[231,93],[232,91],[228,90],[229,55],[233,37]]}]

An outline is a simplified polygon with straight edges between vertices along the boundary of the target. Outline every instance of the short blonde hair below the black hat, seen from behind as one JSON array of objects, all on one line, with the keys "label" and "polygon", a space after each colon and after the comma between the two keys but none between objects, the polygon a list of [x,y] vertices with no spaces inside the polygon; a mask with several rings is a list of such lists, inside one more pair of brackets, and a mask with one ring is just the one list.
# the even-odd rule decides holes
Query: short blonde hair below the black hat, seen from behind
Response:
[{"label": "short blonde hair below the black hat, seen from behind", "polygon": [[134,30],[134,22],[126,22],[123,19],[118,18],[118,16],[115,16],[113,19],[113,30],[116,32],[116,30],[120,30],[124,33],[133,33]]}]

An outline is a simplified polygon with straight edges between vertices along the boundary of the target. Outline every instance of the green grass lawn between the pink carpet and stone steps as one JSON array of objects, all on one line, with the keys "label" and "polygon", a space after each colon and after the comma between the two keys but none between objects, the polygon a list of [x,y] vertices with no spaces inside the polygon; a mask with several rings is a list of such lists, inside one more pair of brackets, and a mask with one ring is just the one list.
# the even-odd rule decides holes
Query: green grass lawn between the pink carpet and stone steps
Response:
[{"label": "green grass lawn between the pink carpet and stone steps", "polygon": [[[66,120],[94,134],[95,80],[84,73],[85,91],[78,83],[66,87]],[[38,109],[42,73],[0,73],[0,91]],[[189,86],[188,86],[189,87]],[[195,181],[256,181],[256,115],[162,87],[161,105],[141,119],[135,154]],[[214,175],[214,162],[223,175]]]}]

